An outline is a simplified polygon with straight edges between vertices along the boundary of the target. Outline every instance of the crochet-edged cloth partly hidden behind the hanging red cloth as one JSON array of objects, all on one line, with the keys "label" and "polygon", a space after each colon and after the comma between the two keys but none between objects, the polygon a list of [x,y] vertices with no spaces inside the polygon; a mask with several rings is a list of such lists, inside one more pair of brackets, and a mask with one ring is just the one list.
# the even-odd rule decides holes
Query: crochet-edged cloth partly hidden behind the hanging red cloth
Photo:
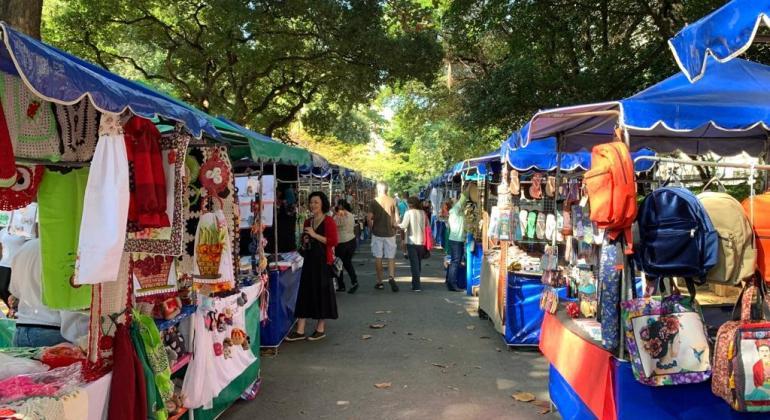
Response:
[{"label": "crochet-edged cloth partly hidden behind the hanging red cloth", "polygon": [[184,157],[187,154],[189,141],[190,136],[182,134],[179,130],[172,135],[163,136],[160,140],[163,172],[166,176],[166,214],[171,220],[171,226],[129,232],[125,245],[126,251],[182,255],[182,234],[184,231],[182,208],[186,193],[183,173]]}]

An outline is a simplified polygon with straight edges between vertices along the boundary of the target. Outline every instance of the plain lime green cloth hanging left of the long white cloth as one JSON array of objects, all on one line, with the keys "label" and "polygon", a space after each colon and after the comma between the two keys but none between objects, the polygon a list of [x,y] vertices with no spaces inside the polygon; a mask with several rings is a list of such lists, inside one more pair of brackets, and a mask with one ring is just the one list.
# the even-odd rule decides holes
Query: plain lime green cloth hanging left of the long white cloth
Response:
[{"label": "plain lime green cloth hanging left of the long white cloth", "polygon": [[43,303],[51,309],[91,306],[91,286],[72,287],[88,168],[66,174],[46,169],[37,191]]}]

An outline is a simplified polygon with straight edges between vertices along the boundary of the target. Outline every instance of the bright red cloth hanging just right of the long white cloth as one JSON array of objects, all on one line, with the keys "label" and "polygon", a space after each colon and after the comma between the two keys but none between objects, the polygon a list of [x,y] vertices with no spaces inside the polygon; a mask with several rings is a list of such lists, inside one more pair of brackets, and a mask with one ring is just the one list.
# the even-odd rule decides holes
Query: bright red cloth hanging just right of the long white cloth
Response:
[{"label": "bright red cloth hanging just right of the long white cloth", "polygon": [[171,223],[166,214],[166,176],[160,153],[160,132],[155,124],[142,117],[131,117],[123,130],[131,170],[130,230],[168,227]]}]

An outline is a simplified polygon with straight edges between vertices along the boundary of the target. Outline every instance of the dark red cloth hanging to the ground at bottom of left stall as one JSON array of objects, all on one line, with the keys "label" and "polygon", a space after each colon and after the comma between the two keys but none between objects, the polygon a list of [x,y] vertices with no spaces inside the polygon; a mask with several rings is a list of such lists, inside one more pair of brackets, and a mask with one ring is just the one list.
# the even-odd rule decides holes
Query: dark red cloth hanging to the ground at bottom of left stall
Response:
[{"label": "dark red cloth hanging to the ground at bottom of left stall", "polygon": [[115,330],[113,349],[107,416],[110,420],[146,419],[147,389],[144,368],[124,324],[118,324]]}]

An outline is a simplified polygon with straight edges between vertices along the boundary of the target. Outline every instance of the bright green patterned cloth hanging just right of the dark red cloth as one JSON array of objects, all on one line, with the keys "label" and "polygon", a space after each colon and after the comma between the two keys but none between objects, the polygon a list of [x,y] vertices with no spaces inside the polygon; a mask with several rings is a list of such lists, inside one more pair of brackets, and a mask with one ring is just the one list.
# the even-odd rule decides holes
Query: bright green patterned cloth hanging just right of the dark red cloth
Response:
[{"label": "bright green patterned cloth hanging just right of the dark red cloth", "polygon": [[155,378],[155,386],[165,406],[165,403],[174,397],[174,384],[171,382],[171,367],[168,363],[166,348],[163,346],[155,320],[137,311],[133,311],[133,314],[134,324],[138,326],[139,335],[144,344],[144,352],[154,372],[151,377]]}]

